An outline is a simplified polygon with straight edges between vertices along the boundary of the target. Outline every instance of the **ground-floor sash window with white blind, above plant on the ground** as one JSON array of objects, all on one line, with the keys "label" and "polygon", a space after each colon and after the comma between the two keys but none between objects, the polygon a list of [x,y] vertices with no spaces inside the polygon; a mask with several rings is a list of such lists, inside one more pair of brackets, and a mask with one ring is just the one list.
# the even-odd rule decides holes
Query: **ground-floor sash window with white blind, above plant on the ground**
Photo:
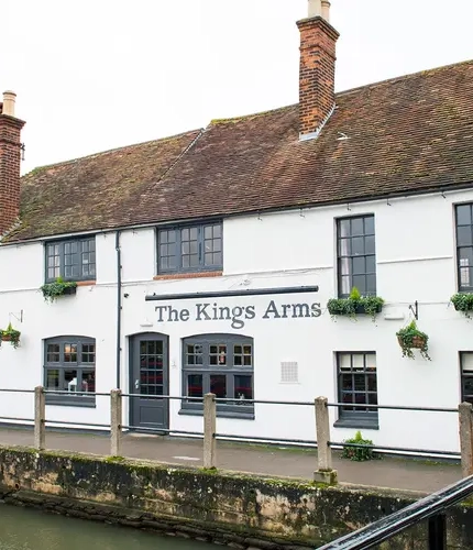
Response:
[{"label": "ground-floor sash window with white blind, above plant on the ground", "polygon": [[337,353],[339,407],[338,424],[350,427],[377,427],[377,409],[353,407],[377,405],[376,354]]}]

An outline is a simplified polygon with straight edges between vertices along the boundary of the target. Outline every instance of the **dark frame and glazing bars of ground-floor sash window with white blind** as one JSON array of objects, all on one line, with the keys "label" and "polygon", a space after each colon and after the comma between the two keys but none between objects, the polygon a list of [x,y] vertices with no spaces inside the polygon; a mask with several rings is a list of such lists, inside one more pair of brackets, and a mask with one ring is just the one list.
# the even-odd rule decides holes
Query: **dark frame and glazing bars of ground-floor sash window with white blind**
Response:
[{"label": "dark frame and glazing bars of ground-floor sash window with white blind", "polygon": [[[365,376],[365,391],[364,392],[355,392],[354,387],[352,386],[352,389],[350,392],[346,392],[342,387],[342,375],[343,374],[349,374],[345,370],[342,371],[341,364],[340,364],[340,359],[342,355],[350,355],[351,356],[351,373],[352,377],[354,374],[363,374]],[[353,355],[363,355],[363,371],[356,371],[353,367]],[[366,371],[366,355],[375,355],[376,352],[374,351],[338,351],[336,352],[336,360],[337,360],[337,393],[338,393],[338,400],[340,404],[344,403],[343,402],[343,394],[365,394],[366,400],[367,400],[367,395],[375,394],[376,395],[376,403],[373,405],[377,405],[377,356],[376,356],[376,392],[371,392],[367,389],[367,374],[373,374],[373,372],[367,372]],[[353,378],[352,378],[353,380]],[[353,402],[356,403],[356,402]],[[346,404],[346,406],[350,406],[350,404]],[[366,409],[363,410],[362,408],[356,407],[355,410],[343,410],[342,406],[339,406],[338,408],[338,415],[339,418],[336,421],[334,426],[337,427],[345,427],[345,428],[367,428],[367,429],[378,429],[380,424],[378,424],[378,409]]]}]

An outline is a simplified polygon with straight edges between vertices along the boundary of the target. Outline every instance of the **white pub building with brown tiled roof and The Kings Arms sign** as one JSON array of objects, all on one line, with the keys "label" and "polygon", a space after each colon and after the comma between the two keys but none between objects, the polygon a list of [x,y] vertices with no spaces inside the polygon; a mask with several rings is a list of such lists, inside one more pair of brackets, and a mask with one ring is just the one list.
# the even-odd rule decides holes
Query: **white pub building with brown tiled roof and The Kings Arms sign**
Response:
[{"label": "white pub building with brown tiled roof and The Kings Arms sign", "polygon": [[211,392],[218,432],[300,440],[312,408],[252,399],[326,396],[334,441],[459,450],[454,414],[363,405],[473,399],[473,62],[334,94],[329,2],[297,24],[298,105],[23,177],[3,95],[0,388],[108,424],[119,387],[157,432],[202,405],[147,396]]}]

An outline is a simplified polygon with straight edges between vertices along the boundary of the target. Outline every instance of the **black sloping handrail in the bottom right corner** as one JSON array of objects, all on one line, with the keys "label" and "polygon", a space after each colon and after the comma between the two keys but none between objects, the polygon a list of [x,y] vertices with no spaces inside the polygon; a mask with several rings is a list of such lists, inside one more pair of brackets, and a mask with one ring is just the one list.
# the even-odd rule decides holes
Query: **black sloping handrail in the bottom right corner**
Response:
[{"label": "black sloping handrail in the bottom right corner", "polygon": [[[406,506],[402,510],[395,512],[391,516],[362,527],[358,531],[345,535],[333,542],[319,547],[318,550],[369,550],[422,520],[437,519],[448,508],[461,503],[472,494],[473,475],[470,475],[437,493],[421,498],[417,503]],[[439,537],[444,537],[444,532],[439,534],[437,531],[437,524],[430,522],[429,531],[432,529]],[[429,536],[431,536],[431,532],[429,532]],[[430,548],[444,547],[431,546]]]}]

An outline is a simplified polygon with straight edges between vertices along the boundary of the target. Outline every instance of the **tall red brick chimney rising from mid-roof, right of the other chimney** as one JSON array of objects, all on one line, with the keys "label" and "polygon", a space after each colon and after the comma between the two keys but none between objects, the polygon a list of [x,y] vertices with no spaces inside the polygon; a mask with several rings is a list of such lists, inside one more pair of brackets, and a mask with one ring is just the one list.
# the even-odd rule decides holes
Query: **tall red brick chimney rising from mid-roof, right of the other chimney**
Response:
[{"label": "tall red brick chimney rising from mid-roof, right of the other chimney", "polygon": [[300,31],[299,136],[317,138],[336,105],[336,44],[339,33],[330,25],[330,2],[308,0],[308,19]]}]

